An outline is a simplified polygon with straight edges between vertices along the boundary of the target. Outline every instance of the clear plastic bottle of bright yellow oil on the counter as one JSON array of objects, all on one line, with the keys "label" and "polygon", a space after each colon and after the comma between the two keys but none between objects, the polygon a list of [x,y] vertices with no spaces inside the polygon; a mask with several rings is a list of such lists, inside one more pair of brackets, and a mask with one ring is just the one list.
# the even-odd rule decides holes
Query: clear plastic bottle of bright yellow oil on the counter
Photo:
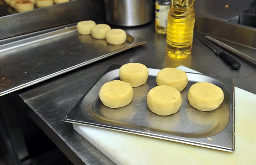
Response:
[{"label": "clear plastic bottle of bright yellow oil on the counter", "polygon": [[195,0],[172,0],[168,15],[166,53],[173,58],[191,55],[195,24]]}]

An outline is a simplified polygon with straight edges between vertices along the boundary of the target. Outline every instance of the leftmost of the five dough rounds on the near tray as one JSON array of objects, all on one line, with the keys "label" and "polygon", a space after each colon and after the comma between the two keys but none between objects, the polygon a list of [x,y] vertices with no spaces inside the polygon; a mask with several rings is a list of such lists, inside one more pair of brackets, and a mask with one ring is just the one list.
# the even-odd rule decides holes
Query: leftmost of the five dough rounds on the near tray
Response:
[{"label": "leftmost of the five dough rounds on the near tray", "polygon": [[102,103],[110,108],[124,107],[131,103],[133,89],[131,84],[113,80],[102,85],[99,91],[99,98]]}]

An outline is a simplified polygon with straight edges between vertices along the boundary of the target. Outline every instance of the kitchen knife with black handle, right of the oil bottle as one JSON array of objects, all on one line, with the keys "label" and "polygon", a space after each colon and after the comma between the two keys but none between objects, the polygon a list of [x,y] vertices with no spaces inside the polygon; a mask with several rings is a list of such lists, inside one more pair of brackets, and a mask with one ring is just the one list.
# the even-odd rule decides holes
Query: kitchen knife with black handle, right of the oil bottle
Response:
[{"label": "kitchen knife with black handle, right of the oil bottle", "polygon": [[194,33],[194,35],[200,41],[202,41],[204,44],[206,44],[209,48],[211,48],[215,52],[215,54],[217,56],[219,56],[225,63],[229,64],[230,67],[232,67],[234,69],[238,69],[239,67],[241,67],[241,64],[235,58],[233,58],[230,55],[226,54],[223,50],[218,48],[218,46],[215,45],[215,43],[212,43],[211,41],[208,41],[207,39],[202,38],[202,37],[198,36],[195,33]]}]

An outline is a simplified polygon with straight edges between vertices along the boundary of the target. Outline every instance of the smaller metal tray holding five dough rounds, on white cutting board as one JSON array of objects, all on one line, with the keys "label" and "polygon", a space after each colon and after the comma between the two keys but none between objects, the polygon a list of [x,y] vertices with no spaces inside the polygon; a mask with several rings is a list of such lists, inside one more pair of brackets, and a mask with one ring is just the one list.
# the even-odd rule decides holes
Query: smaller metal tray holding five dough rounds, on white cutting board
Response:
[{"label": "smaller metal tray holding five dough rounds, on white cutting board", "polygon": [[[134,88],[133,100],[125,107],[111,109],[102,104],[99,90],[108,81],[119,79],[119,65],[112,65],[63,118],[64,122],[92,125],[122,132],[182,142],[222,151],[234,151],[234,81],[232,78],[186,72],[189,83],[180,93],[180,110],[158,116],[147,106],[146,96],[156,87],[159,69],[148,68],[146,84]],[[210,82],[224,92],[217,110],[202,112],[190,106],[187,93],[196,82]]]}]

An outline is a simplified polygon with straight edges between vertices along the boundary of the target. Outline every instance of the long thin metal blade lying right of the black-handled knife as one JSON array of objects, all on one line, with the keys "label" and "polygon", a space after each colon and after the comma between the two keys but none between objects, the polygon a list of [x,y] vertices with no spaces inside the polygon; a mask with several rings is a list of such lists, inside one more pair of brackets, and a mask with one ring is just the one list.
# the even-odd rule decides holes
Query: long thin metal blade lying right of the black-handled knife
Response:
[{"label": "long thin metal blade lying right of the black-handled knife", "polygon": [[216,43],[217,45],[223,47],[224,49],[227,49],[229,50],[230,52],[233,52],[235,53],[236,55],[239,55],[241,58],[244,58],[245,60],[253,63],[254,65],[256,65],[256,59],[250,57],[249,55],[246,55],[245,53],[243,52],[240,52],[239,50],[237,49],[234,49],[233,47],[231,46],[228,46],[227,44],[221,42],[221,41],[218,41],[216,40],[215,38],[212,38],[210,36],[205,36],[205,38],[207,38],[209,41],[212,41],[213,43]]}]

